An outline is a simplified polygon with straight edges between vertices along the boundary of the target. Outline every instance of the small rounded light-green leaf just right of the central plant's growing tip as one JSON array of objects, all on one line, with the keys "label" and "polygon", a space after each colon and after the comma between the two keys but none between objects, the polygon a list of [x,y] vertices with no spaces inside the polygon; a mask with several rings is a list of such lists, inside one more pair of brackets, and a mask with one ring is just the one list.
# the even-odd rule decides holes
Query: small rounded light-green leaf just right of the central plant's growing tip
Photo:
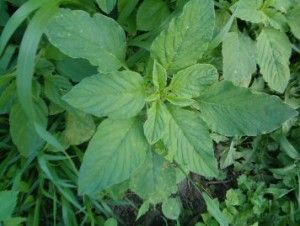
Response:
[{"label": "small rounded light-green leaf just right of the central plant's growing tip", "polygon": [[179,97],[198,97],[208,86],[218,81],[218,71],[210,64],[195,64],[177,72],[170,84]]}]

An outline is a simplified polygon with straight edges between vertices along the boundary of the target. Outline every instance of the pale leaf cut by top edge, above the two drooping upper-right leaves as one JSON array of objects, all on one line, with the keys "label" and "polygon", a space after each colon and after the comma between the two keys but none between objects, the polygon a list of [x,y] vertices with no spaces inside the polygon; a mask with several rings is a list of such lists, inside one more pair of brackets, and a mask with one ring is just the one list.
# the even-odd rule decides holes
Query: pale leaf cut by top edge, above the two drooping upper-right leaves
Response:
[{"label": "pale leaf cut by top edge, above the two drooping upper-right leaves", "polygon": [[231,11],[242,20],[251,23],[265,23],[267,16],[261,10],[262,6],[263,0],[239,0],[233,5]]}]

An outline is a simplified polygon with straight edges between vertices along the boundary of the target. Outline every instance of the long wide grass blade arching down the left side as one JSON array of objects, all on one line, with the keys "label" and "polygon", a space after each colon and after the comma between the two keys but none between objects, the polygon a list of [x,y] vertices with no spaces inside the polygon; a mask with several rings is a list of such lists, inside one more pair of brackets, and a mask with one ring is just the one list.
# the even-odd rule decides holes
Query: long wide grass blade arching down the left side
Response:
[{"label": "long wide grass blade arching down the left side", "polygon": [[[37,2],[36,0],[28,1]],[[49,20],[58,10],[59,0],[39,1],[41,8],[32,17],[22,38],[17,61],[17,93],[18,99],[28,120],[34,124],[39,136],[59,150],[63,150],[62,145],[49,133],[42,124],[39,123],[35,112],[32,95],[32,80],[36,63],[36,54],[40,40],[49,23]],[[26,4],[24,4],[25,6]],[[22,8],[22,7],[21,7]],[[21,9],[20,8],[20,9]]]}]

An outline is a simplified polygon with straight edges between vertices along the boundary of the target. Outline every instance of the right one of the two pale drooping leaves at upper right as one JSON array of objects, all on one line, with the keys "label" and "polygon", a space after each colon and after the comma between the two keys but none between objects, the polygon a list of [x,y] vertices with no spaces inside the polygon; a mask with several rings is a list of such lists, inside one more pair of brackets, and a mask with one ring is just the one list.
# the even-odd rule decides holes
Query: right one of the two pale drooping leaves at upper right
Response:
[{"label": "right one of the two pale drooping leaves at upper right", "polygon": [[260,71],[268,85],[281,93],[290,79],[291,52],[288,37],[280,31],[264,28],[257,38],[257,62]]}]

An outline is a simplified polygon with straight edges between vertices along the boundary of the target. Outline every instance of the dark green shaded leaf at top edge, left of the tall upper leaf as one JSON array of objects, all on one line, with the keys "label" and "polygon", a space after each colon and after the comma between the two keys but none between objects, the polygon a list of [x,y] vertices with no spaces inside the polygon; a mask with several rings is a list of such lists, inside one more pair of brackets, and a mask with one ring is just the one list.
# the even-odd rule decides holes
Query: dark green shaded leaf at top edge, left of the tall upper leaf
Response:
[{"label": "dark green shaded leaf at top edge, left of the tall upper leaf", "polygon": [[170,14],[168,5],[163,0],[144,0],[136,14],[137,28],[150,31],[159,25]]}]

